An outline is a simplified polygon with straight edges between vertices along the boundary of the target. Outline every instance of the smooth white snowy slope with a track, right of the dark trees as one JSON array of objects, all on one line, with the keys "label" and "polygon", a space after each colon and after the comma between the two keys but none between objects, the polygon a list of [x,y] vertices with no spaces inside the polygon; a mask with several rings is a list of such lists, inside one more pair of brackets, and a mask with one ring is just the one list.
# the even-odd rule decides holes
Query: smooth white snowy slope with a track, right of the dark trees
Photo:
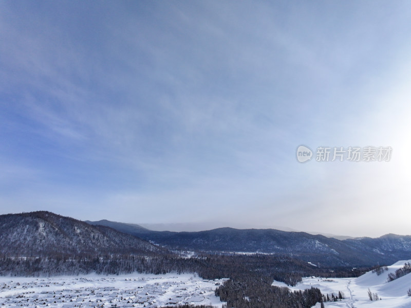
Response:
[{"label": "smooth white snowy slope with a track, right of the dark trees", "polygon": [[[411,297],[407,295],[407,291],[411,288],[411,274],[405,275],[394,281],[387,282],[389,273],[394,273],[397,269],[404,266],[407,261],[399,261],[391,266],[388,266],[388,271],[377,275],[369,271],[358,278],[304,278],[301,283],[290,289],[306,289],[317,287],[324,295],[338,295],[341,291],[344,293],[345,299],[338,302],[326,302],[325,307],[355,307],[355,308],[411,308]],[[273,285],[287,286],[285,283],[274,281]],[[368,288],[371,293],[376,293],[381,300],[371,301],[368,297]],[[315,305],[319,308],[320,303]]]}]

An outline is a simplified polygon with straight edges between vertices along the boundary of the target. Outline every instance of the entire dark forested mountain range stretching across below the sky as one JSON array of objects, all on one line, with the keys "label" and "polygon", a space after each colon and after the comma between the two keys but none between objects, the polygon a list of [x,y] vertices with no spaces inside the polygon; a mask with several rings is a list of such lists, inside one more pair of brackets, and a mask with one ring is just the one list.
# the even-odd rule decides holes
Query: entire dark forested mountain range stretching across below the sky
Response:
[{"label": "entire dark forested mountain range stretching across below the sky", "polygon": [[107,220],[83,222],[46,211],[0,215],[0,256],[159,256],[177,250],[268,253],[321,267],[359,267],[411,259],[411,236],[338,240],[274,229],[171,232]]}]

